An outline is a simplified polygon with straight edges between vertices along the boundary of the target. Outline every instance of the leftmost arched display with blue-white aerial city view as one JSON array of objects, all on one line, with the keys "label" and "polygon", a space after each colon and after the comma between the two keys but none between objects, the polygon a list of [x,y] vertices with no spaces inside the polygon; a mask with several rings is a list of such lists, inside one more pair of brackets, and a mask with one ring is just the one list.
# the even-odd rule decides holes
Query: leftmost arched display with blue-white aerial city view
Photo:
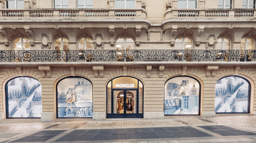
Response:
[{"label": "leftmost arched display with blue-white aerial city view", "polygon": [[7,84],[8,118],[40,118],[42,88],[38,80],[30,77],[14,78]]}]

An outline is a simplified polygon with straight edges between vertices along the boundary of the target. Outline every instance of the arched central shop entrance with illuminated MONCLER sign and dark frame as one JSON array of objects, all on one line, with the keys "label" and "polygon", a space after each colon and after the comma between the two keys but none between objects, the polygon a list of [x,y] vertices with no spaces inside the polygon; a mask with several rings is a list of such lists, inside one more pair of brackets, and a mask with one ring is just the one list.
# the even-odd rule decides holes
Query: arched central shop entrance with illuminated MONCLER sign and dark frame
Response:
[{"label": "arched central shop entrance with illuminated MONCLER sign and dark frame", "polygon": [[107,118],[143,118],[143,84],[121,76],[107,84]]}]

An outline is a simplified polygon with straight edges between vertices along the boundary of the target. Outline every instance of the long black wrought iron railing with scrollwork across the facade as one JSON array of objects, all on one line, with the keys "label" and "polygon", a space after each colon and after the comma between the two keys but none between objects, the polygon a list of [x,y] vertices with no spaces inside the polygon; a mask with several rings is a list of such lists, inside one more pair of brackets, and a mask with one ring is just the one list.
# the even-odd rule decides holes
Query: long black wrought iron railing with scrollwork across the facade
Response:
[{"label": "long black wrought iron railing with scrollwork across the facade", "polygon": [[24,50],[0,51],[0,62],[133,62],[256,60],[256,50]]}]

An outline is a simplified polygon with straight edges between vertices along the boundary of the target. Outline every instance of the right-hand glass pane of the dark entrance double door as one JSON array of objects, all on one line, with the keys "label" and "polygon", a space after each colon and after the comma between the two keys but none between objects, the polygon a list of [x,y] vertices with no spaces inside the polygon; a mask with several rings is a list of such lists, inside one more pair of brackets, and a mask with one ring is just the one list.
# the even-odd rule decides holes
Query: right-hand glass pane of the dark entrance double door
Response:
[{"label": "right-hand glass pane of the dark entrance double door", "polygon": [[126,113],[136,113],[136,90],[126,90]]}]

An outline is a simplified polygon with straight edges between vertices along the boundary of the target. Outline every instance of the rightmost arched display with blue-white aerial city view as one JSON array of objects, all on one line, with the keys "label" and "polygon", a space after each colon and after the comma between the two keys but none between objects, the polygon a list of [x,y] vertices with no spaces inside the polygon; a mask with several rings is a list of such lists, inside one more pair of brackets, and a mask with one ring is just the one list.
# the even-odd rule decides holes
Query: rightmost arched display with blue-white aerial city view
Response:
[{"label": "rightmost arched display with blue-white aerial city view", "polygon": [[220,79],[215,85],[216,113],[248,113],[249,83],[238,76]]}]

